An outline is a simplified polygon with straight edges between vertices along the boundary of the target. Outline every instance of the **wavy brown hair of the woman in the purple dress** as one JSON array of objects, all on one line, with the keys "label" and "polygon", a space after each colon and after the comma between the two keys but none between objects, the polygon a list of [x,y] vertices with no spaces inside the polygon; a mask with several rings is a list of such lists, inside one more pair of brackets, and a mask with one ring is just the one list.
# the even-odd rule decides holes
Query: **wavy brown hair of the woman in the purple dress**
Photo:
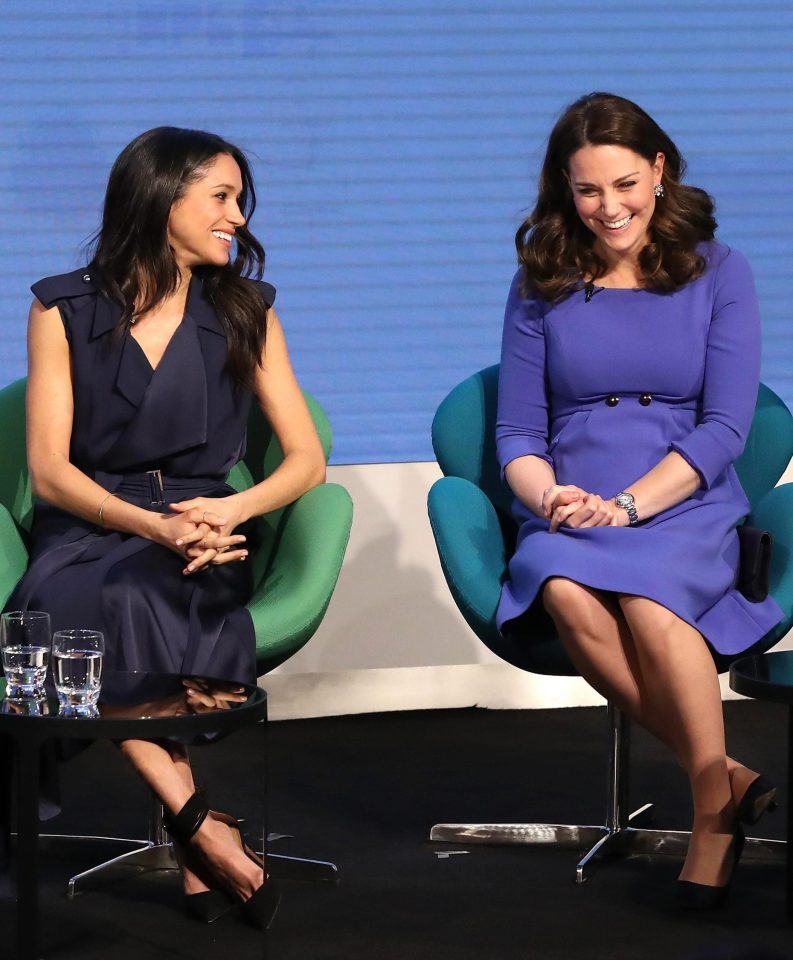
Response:
[{"label": "wavy brown hair of the woman in the purple dress", "polygon": [[641,107],[612,93],[590,93],[572,103],[551,131],[536,205],[515,235],[526,292],[557,301],[582,279],[596,280],[606,272],[567,180],[573,154],[600,145],[626,147],[650,164],[658,153],[665,157],[664,196],[656,202],[648,243],[639,254],[642,285],[669,293],[696,279],[705,270],[697,244],[712,240],[716,230],[713,200],[680,182],[686,166],[680,151]]}]

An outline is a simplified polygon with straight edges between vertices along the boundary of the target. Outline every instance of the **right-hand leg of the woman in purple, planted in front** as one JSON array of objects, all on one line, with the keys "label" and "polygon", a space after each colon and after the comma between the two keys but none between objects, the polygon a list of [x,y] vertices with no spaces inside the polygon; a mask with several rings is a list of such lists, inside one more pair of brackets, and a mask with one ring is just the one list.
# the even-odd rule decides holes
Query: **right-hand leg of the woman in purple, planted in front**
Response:
[{"label": "right-hand leg of the woman in purple, planted in front", "polygon": [[642,685],[688,773],[694,825],[681,880],[722,886],[735,827],[724,718],[713,658],[693,627],[645,597],[620,596]]}]

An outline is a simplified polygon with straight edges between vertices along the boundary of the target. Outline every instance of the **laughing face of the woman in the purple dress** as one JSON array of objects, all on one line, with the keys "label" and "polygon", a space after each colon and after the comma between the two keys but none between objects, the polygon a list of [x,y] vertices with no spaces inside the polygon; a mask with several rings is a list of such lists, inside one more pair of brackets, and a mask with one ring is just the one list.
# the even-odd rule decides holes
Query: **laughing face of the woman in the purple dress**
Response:
[{"label": "laughing face of the woman in the purple dress", "polygon": [[649,163],[627,147],[588,145],[570,157],[568,180],[576,211],[611,264],[635,262],[647,243],[664,155]]}]

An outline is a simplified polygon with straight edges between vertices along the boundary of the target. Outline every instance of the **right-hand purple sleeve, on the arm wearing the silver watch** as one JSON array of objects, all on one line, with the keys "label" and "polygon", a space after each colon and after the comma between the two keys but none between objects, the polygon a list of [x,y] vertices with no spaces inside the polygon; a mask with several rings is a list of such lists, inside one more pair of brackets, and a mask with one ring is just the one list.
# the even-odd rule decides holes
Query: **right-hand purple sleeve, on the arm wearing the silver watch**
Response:
[{"label": "right-hand purple sleeve, on the arm wearing the silver watch", "polygon": [[699,423],[670,444],[702,477],[705,489],[743,451],[759,379],[760,312],[752,271],[743,254],[730,250],[715,279]]}]

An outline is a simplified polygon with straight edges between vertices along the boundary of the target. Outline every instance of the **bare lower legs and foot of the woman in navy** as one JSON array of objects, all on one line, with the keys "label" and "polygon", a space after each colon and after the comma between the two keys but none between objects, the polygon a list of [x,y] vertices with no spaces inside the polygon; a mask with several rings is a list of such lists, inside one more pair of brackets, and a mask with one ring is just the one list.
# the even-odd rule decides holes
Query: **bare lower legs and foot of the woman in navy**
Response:
[{"label": "bare lower legs and foot of the woman in navy", "polygon": [[[120,746],[163,805],[171,813],[178,813],[195,789],[187,756],[178,749],[172,755],[159,744],[147,740],[124,740]],[[197,847],[222,885],[241,899],[249,899],[261,886],[261,868],[240,849],[232,830],[225,823],[207,817],[191,843]],[[185,889],[193,893],[206,887],[191,874],[185,876]]]}]

